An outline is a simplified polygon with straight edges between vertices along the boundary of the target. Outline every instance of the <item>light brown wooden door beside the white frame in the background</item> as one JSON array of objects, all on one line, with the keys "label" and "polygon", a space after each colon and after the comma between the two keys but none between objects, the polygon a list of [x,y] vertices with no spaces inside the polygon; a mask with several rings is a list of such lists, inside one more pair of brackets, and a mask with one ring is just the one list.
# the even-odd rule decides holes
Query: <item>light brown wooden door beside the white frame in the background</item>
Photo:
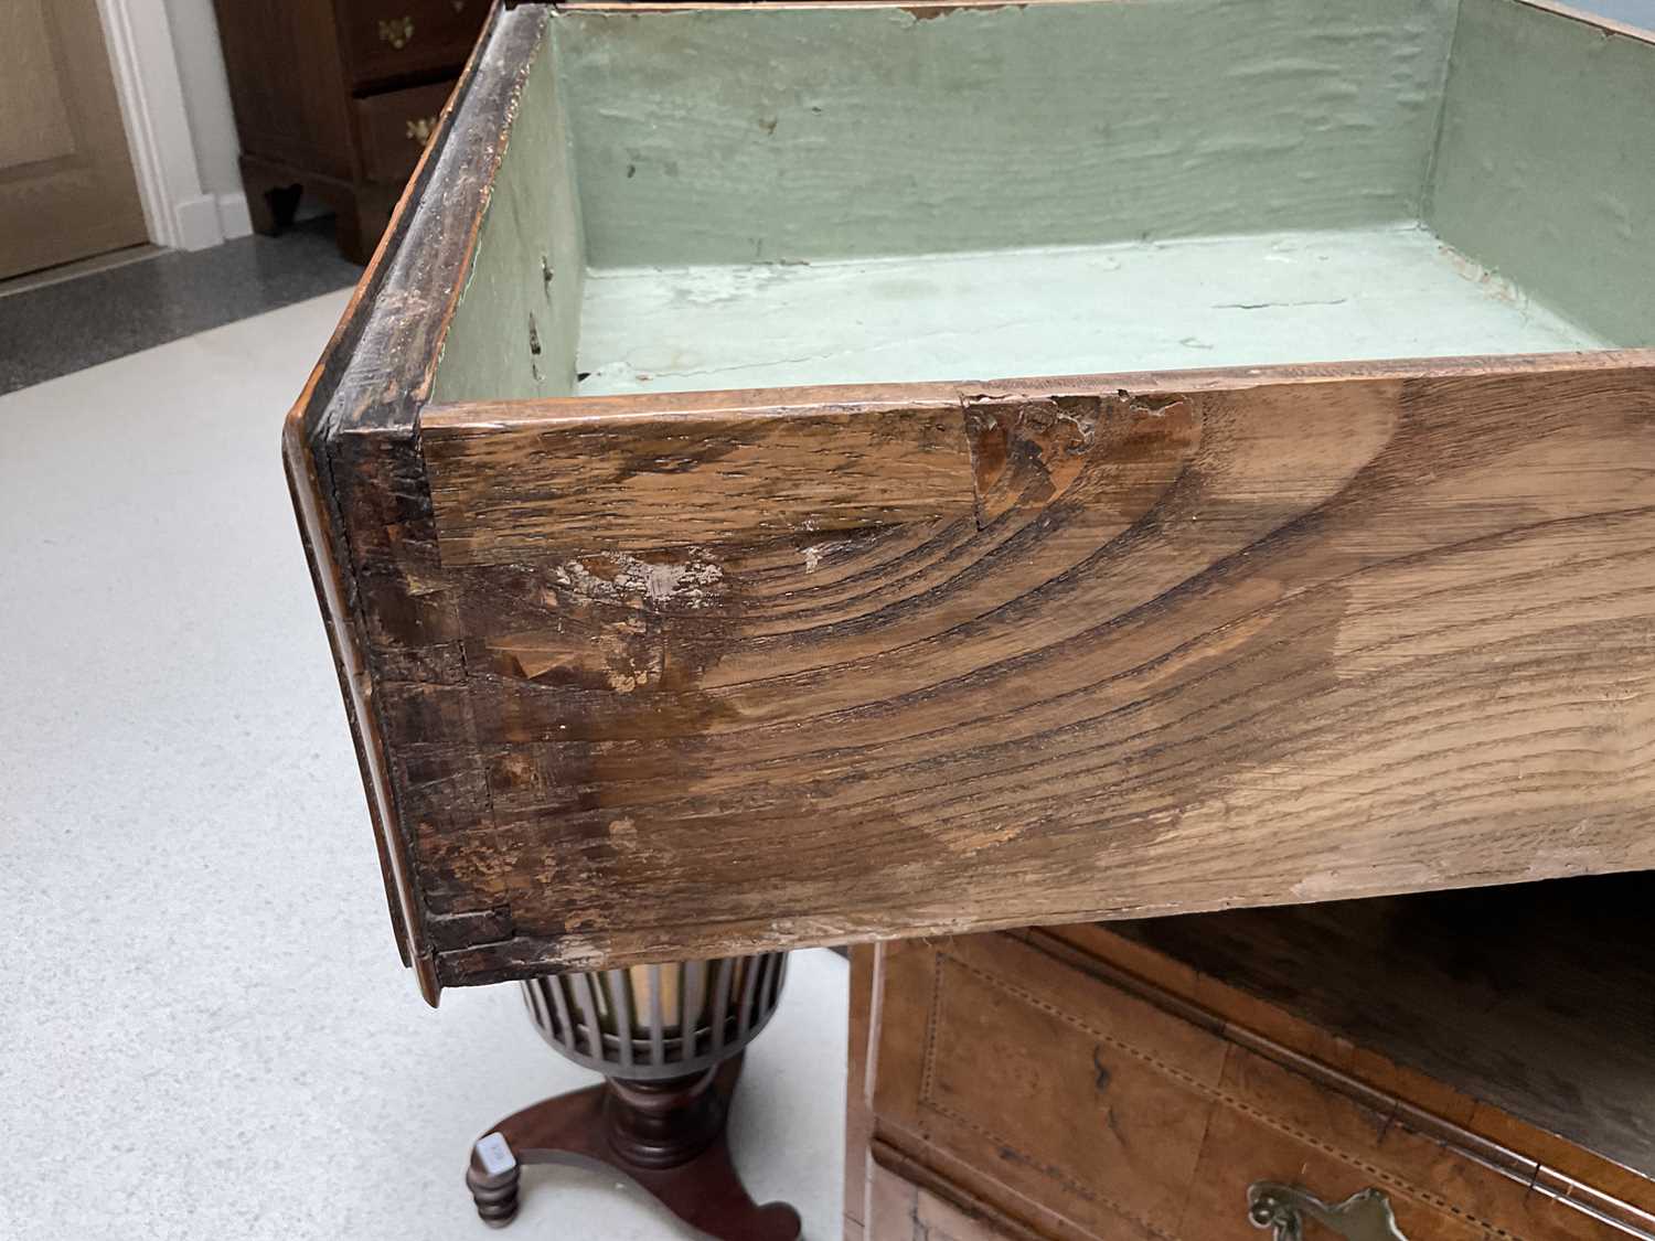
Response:
[{"label": "light brown wooden door beside the white frame in the background", "polygon": [[146,237],[96,0],[0,0],[0,278]]}]

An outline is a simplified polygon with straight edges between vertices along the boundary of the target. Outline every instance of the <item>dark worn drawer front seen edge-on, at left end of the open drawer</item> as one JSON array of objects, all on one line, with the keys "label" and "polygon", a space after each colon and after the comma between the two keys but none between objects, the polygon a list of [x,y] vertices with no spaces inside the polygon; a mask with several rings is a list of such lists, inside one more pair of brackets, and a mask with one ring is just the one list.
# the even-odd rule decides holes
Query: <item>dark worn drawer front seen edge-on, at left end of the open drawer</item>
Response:
[{"label": "dark worn drawer front seen edge-on, at left end of the open drawer", "polygon": [[[414,968],[432,1004],[442,989],[435,951],[453,933],[419,890],[402,819],[405,789],[399,784],[405,768],[389,750],[379,695],[401,678],[440,675],[442,659],[399,659],[384,640],[387,619],[369,612],[374,599],[387,601],[396,617],[417,611],[419,579],[410,571],[420,561],[435,561],[414,415],[430,391],[435,338],[452,313],[457,273],[477,243],[488,175],[503,144],[503,117],[510,116],[510,99],[521,89],[543,28],[543,17],[530,10],[490,20],[281,440],[362,768],[392,928],[404,965]],[[434,180],[449,187],[462,210],[414,210]],[[410,306],[437,313],[407,313]],[[430,551],[422,554],[427,546]],[[453,925],[472,935],[510,933],[510,923],[488,910]]]}]

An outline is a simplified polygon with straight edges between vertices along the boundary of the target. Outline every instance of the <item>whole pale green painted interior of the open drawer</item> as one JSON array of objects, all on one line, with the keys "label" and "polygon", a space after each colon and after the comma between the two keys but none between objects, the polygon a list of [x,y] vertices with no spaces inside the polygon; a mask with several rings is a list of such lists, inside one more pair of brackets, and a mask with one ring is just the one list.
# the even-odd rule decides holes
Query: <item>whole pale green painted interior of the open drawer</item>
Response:
[{"label": "whole pale green painted interior of the open drawer", "polygon": [[[1610,167],[1655,142],[1655,48],[1519,0],[563,10],[549,28],[440,399],[1655,341],[1655,161]],[[1595,63],[1609,81],[1577,81]],[[1542,108],[1554,81],[1581,86],[1577,122],[1595,99],[1642,132],[1571,139],[1481,103]],[[1534,222],[1480,202],[1490,159],[1529,175]],[[1592,227],[1564,228],[1571,205]]]}]

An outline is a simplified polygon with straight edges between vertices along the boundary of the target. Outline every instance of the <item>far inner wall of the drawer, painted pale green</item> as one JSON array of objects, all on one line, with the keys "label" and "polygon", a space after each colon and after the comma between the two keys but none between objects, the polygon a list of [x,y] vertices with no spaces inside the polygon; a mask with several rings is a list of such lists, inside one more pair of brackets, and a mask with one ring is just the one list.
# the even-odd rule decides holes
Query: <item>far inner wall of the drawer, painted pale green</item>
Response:
[{"label": "far inner wall of the drawer, painted pale green", "polygon": [[594,266],[1418,215],[1451,0],[574,12]]}]

